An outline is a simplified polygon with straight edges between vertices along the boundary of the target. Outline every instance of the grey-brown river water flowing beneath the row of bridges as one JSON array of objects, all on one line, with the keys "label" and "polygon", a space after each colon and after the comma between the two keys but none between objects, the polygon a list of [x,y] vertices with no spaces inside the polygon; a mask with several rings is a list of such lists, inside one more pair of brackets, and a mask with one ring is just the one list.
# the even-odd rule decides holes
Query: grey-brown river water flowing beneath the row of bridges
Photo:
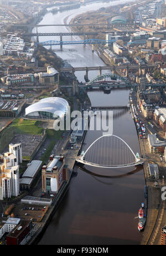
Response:
[{"label": "grey-brown river water flowing beneath the row of bridges", "polygon": [[[81,6],[79,9],[62,13],[46,13],[40,24],[69,23],[77,14],[131,1],[98,2]],[[55,8],[55,7],[54,7]],[[38,32],[66,32],[66,27],[39,27]],[[35,32],[35,29],[33,29]],[[40,37],[40,41],[60,40],[59,37]],[[63,40],[80,40],[79,37],[63,37]],[[63,52],[56,53],[68,60],[74,67],[105,65],[92,53],[91,46],[63,46]],[[84,72],[76,72],[79,81],[84,81]],[[89,72],[89,78],[98,75],[97,71]],[[110,94],[102,91],[88,92],[92,106],[117,107],[113,109],[113,134],[121,137],[136,153],[139,142],[136,127],[128,110],[119,106],[127,106],[129,90],[112,90]],[[87,131],[82,150],[86,150],[92,142],[102,135],[102,131]],[[116,156],[118,157],[118,155]],[[144,200],[144,174],[142,167],[126,169],[97,169],[75,166],[77,175],[71,179],[58,210],[51,219],[39,244],[139,244],[142,233],[138,232],[138,209]],[[97,175],[98,174],[98,175]],[[101,175],[107,175],[102,177]],[[108,177],[110,176],[110,177]]]}]

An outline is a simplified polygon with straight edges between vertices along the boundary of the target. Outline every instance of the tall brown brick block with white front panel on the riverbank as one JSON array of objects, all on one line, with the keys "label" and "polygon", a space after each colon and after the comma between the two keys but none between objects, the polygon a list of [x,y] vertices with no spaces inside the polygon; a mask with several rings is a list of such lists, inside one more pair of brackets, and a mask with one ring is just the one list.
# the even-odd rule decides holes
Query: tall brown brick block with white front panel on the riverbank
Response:
[{"label": "tall brown brick block with white front panel on the riverbank", "polygon": [[48,165],[42,167],[43,192],[58,193],[64,181],[69,179],[69,167],[64,163],[64,156],[50,156]]}]

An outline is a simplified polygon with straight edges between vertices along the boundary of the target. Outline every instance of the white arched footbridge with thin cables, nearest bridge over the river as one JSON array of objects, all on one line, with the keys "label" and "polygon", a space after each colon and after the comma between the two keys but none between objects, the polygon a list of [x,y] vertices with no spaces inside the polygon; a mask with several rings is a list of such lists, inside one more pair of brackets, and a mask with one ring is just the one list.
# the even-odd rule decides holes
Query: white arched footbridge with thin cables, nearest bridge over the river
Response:
[{"label": "white arched footbridge with thin cables, nearest bridge over the river", "polygon": [[129,145],[116,135],[103,135],[88,149],[77,156],[76,161],[98,168],[125,168],[143,164],[139,154],[134,154]]}]

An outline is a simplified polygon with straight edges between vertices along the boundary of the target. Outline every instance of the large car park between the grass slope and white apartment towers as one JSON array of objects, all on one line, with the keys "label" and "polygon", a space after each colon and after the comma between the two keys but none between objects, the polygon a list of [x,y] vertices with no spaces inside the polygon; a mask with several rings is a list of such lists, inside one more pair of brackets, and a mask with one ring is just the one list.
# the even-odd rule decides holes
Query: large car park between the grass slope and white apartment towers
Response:
[{"label": "large car park between the grass slope and white apartment towers", "polygon": [[[23,156],[30,157],[32,156],[34,150],[39,145],[42,139],[43,139],[43,135],[17,134],[13,137],[10,143],[13,143],[13,144],[21,143]],[[8,146],[4,150],[8,151]]]}]

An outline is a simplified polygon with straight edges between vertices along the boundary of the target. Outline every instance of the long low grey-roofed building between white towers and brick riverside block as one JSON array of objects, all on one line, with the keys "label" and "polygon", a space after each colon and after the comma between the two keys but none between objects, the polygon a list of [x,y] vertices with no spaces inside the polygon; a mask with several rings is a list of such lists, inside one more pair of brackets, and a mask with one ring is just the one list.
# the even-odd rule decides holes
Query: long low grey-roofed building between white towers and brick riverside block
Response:
[{"label": "long low grey-roofed building between white towers and brick riverside block", "polygon": [[24,174],[22,175],[22,178],[19,181],[20,190],[30,189],[30,186],[32,185],[35,177],[42,168],[42,161],[33,160],[27,166],[27,170],[25,170]]}]

